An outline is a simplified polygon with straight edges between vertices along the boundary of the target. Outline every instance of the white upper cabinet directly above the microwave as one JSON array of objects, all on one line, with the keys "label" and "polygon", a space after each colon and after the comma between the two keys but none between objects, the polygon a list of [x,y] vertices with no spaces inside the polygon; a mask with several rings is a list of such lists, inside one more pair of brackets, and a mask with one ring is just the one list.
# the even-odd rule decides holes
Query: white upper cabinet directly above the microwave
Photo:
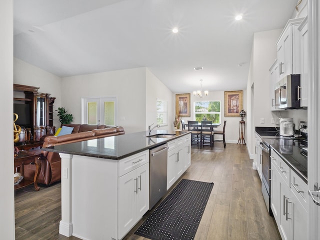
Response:
[{"label": "white upper cabinet directly above the microwave", "polygon": [[298,26],[302,19],[289,19],[276,42],[279,79],[289,74],[300,74],[300,34]]}]

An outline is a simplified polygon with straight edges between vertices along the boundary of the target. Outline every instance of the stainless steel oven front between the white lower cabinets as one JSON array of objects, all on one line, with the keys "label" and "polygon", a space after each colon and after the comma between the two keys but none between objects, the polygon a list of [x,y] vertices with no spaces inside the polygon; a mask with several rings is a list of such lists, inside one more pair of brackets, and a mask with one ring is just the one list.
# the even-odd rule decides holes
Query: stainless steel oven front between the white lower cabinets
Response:
[{"label": "stainless steel oven front between the white lower cabinets", "polygon": [[260,142],[260,148],[262,150],[262,182],[261,182],[261,191],[265,201],[266,208],[268,212],[270,211],[270,149],[264,143]]}]

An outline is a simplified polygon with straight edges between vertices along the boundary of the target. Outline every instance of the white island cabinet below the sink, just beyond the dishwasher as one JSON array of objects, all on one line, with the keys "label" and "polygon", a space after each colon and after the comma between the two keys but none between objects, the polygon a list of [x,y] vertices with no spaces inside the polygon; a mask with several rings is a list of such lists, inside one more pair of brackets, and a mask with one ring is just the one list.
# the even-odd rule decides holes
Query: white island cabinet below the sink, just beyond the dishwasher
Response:
[{"label": "white island cabinet below the sink, just beyond the dishwasher", "polygon": [[191,164],[190,134],[168,141],[167,182],[166,189],[182,175]]}]

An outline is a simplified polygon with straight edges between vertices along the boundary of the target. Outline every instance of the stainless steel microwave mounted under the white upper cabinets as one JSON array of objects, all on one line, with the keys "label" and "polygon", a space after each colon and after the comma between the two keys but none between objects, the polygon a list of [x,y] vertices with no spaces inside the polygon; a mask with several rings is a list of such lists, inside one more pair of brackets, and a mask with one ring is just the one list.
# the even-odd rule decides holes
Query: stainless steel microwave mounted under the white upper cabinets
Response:
[{"label": "stainless steel microwave mounted under the white upper cabinets", "polygon": [[300,107],[300,74],[291,74],[283,77],[275,84],[275,108]]}]

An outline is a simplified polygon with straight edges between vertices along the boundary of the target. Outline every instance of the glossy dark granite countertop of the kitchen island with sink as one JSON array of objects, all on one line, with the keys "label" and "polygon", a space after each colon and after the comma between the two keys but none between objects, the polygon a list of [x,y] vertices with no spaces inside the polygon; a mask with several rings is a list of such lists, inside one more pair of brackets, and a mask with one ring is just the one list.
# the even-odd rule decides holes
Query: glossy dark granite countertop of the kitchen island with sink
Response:
[{"label": "glossy dark granite countertop of the kitchen island with sink", "polygon": [[169,138],[146,137],[147,131],[140,131],[66,143],[42,149],[46,151],[118,160],[186,135],[189,131],[153,130],[150,135],[158,133],[171,133],[175,135]]}]

